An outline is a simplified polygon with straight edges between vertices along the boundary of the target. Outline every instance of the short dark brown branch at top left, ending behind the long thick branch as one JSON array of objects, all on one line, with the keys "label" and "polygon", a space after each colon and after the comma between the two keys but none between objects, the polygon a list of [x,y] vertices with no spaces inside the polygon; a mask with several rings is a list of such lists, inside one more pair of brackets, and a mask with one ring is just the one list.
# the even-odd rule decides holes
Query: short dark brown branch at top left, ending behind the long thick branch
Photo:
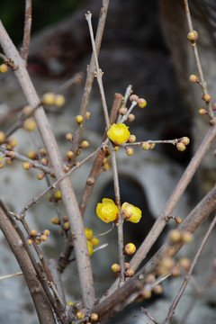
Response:
[{"label": "short dark brown branch at top left, ending behind the long thick branch", "polygon": [[31,37],[31,0],[25,0],[25,20],[21,57],[27,62]]}]

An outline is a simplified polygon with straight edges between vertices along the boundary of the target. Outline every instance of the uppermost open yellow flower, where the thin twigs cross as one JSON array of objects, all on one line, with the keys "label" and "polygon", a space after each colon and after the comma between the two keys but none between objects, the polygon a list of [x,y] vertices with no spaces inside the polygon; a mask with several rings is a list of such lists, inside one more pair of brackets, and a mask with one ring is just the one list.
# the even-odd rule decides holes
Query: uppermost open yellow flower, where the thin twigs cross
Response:
[{"label": "uppermost open yellow flower, where the thin twigs cross", "polygon": [[111,128],[107,131],[107,136],[115,145],[121,145],[130,138],[130,131],[123,123],[113,123]]}]

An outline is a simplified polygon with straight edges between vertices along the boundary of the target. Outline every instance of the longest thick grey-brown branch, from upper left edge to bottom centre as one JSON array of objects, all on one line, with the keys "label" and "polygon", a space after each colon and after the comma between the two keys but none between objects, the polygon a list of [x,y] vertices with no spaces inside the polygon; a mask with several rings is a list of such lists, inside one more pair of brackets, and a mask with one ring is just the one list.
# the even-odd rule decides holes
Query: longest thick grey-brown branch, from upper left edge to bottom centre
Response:
[{"label": "longest thick grey-brown branch, from upper left edge to bottom centre", "polygon": [[[22,86],[23,94],[25,95],[27,102],[33,107],[37,106],[37,104],[40,103],[40,99],[31,83],[31,79],[27,73],[23,59],[19,56],[17,49],[15,49],[13,42],[10,40],[1,22],[0,42],[2,48],[4,49],[5,55],[12,58],[14,62],[16,62],[16,66],[18,68],[14,71],[14,74]],[[53,167],[53,172],[58,179],[65,175],[64,164],[58,149],[58,144],[50,129],[49,121],[42,106],[35,111],[34,117],[45,148],[47,148],[49,160]],[[92,268],[85,238],[84,224],[69,177],[60,182],[59,189],[62,194],[65,209],[67,211],[70,228],[76,234],[76,239],[74,239],[74,247],[82,299],[85,307],[91,308],[95,299]]]}]

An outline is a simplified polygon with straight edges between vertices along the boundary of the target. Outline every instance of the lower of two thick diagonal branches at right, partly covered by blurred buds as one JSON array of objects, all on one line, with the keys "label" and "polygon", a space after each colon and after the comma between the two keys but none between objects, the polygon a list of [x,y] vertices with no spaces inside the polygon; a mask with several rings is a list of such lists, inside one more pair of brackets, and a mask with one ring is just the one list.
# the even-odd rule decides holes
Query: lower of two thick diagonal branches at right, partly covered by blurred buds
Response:
[{"label": "lower of two thick diagonal branches at right, partly covered by blurred buds", "polygon": [[[214,186],[210,193],[199,202],[193,211],[187,216],[187,218],[178,227],[181,233],[185,231],[190,231],[193,233],[205,220],[212,211],[216,209],[216,186]],[[148,261],[148,263],[143,266],[139,272],[132,278],[127,280],[122,287],[116,287],[112,293],[108,296],[103,297],[101,302],[94,307],[92,312],[96,312],[100,319],[109,318],[115,312],[115,307],[125,302],[125,296],[130,296],[132,293],[138,292],[145,284],[145,275],[153,272],[162,257],[166,255],[167,250],[172,247],[174,250],[174,255],[183,247],[184,242],[174,244],[168,238],[164,245],[159,248],[154,257]]]}]

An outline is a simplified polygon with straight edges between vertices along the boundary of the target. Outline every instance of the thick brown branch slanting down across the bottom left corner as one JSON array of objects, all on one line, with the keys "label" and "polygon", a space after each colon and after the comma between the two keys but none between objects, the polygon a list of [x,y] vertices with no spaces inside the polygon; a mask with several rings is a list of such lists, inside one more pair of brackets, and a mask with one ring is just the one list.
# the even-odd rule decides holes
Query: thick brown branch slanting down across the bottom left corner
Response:
[{"label": "thick brown branch slanting down across the bottom left corner", "polygon": [[7,215],[7,211],[4,209],[2,202],[0,203],[0,228],[4,233],[4,237],[7,239],[14,257],[16,257],[19,266],[23,272],[26,284],[29,287],[32,301],[34,302],[35,309],[37,311],[40,323],[53,323],[53,313],[49,304],[49,299],[44,293],[43,288],[40,284],[40,280],[37,277],[34,266],[31,263],[31,259],[26,251],[23,240],[19,236],[18,232],[14,228],[10,216]]}]

